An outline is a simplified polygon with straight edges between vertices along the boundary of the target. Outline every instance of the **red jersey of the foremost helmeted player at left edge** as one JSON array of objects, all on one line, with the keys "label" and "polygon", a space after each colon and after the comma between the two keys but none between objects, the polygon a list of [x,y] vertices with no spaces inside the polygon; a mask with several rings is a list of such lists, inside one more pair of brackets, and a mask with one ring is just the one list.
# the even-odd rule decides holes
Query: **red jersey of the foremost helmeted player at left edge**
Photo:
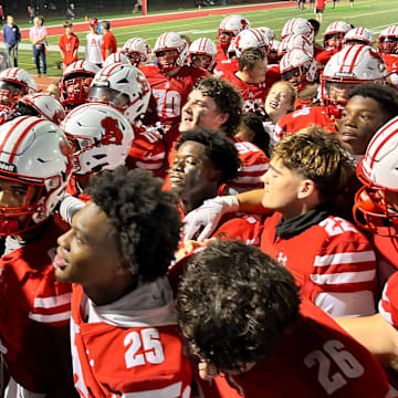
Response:
[{"label": "red jersey of the foremost helmeted player at left edge", "polygon": [[7,238],[11,251],[0,259],[1,353],[13,379],[32,392],[49,391],[63,377],[55,329],[69,325],[71,284],[55,281],[53,258],[56,239],[67,229],[54,216],[31,243]]}]

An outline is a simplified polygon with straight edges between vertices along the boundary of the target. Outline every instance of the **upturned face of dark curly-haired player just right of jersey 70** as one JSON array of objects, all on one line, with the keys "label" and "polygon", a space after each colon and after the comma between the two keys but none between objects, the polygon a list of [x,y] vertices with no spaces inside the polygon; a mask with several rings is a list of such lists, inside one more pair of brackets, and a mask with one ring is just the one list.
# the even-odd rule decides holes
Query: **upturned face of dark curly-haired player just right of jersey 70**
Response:
[{"label": "upturned face of dark curly-haired player just right of jersey 70", "polygon": [[193,90],[182,107],[179,130],[182,133],[197,127],[218,130],[228,116],[219,111],[214,100],[205,96],[199,90]]}]

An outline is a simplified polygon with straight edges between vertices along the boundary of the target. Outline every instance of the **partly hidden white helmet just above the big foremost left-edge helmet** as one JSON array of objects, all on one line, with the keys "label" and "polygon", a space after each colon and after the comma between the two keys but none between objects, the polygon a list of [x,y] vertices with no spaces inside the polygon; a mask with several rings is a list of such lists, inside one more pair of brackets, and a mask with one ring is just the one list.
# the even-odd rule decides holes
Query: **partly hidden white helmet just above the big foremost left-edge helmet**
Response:
[{"label": "partly hidden white helmet just above the big foremost left-edge helmet", "polygon": [[31,115],[60,124],[66,113],[61,103],[53,96],[44,93],[24,95],[18,101],[17,112],[21,115]]}]

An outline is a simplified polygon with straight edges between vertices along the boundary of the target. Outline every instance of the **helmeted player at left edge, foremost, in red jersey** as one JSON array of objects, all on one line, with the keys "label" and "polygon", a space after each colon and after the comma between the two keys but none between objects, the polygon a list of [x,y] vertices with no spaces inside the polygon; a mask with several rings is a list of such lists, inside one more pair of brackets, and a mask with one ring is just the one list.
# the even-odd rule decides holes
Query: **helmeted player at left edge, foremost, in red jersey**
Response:
[{"label": "helmeted player at left edge, foremost, in red jersey", "polygon": [[72,148],[55,124],[20,116],[0,127],[1,355],[21,397],[74,396],[71,285],[55,281],[53,265],[69,229],[54,210],[71,172]]}]

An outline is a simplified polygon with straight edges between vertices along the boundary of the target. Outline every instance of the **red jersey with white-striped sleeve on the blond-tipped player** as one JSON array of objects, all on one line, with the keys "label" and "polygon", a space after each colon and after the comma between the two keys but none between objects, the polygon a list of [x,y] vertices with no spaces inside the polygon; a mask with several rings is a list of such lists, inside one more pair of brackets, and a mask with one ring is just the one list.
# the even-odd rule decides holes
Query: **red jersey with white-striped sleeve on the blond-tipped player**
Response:
[{"label": "red jersey with white-striped sleeve on the blond-tipped player", "polygon": [[375,313],[376,254],[350,222],[329,216],[305,231],[276,237],[282,214],[264,221],[261,249],[292,272],[302,293],[331,316]]}]

